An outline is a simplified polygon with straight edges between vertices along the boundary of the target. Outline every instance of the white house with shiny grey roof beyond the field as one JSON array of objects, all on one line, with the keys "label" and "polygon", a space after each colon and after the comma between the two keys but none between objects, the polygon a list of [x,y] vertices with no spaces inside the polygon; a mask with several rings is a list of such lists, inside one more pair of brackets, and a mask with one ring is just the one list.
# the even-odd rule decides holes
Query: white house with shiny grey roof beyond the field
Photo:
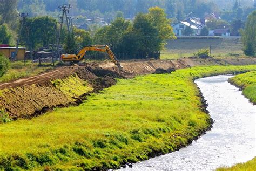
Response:
[{"label": "white house with shiny grey roof beyond the field", "polygon": [[204,24],[200,22],[199,18],[188,18],[172,25],[173,32],[176,36],[184,36],[183,30],[185,30],[186,27],[193,29],[194,33],[192,36],[195,36],[200,35],[201,29],[204,28]]}]

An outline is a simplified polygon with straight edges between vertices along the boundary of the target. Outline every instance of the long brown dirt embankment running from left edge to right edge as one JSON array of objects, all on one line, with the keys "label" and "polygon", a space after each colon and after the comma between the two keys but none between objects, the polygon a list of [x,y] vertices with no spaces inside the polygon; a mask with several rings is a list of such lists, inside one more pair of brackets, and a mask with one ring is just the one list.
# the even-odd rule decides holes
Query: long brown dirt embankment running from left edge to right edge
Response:
[{"label": "long brown dirt embankment running from left edge to right edge", "polygon": [[5,109],[13,119],[31,118],[54,107],[80,104],[90,92],[98,92],[114,85],[115,78],[132,78],[152,73],[158,68],[183,69],[199,65],[225,64],[256,64],[256,59],[130,61],[122,62],[124,71],[119,71],[113,63],[103,63],[100,67],[59,67],[35,77],[0,84],[0,109]]}]

